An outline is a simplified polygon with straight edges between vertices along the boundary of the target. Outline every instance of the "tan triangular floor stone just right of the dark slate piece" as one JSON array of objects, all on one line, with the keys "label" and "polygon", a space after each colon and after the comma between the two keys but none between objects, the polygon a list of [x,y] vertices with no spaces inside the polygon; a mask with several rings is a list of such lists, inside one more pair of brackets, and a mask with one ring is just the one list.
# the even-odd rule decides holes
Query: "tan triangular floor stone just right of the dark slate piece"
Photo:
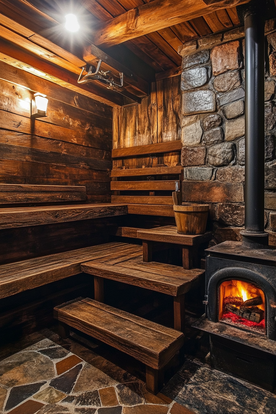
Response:
[{"label": "tan triangular floor stone just right of the dark slate piece", "polygon": [[95,368],[89,363],[85,363],[74,387],[74,392],[93,391],[117,383],[116,380],[110,378],[98,368]]}]

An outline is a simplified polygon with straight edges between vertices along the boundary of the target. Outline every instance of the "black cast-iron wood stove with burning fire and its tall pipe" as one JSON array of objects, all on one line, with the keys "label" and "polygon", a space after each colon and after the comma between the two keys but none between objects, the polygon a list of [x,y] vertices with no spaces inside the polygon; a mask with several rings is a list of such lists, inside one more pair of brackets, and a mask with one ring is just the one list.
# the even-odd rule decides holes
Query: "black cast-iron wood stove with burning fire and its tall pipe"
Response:
[{"label": "black cast-iron wood stove with burning fire and its tall pipe", "polygon": [[264,231],[264,9],[245,19],[245,230],[242,242],[207,249],[206,314],[211,365],[273,390],[276,385],[276,250]]}]

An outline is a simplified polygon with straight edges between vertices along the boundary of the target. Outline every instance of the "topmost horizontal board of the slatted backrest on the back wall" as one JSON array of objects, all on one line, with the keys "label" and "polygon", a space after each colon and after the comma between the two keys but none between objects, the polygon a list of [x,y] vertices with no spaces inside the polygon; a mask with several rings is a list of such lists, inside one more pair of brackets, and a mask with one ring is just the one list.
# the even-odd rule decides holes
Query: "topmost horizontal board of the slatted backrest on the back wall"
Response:
[{"label": "topmost horizontal board of the slatted backrest on the back wall", "polygon": [[126,147],[112,150],[113,158],[124,156],[135,156],[143,154],[157,154],[159,152],[173,152],[182,149],[181,140],[158,142],[156,144],[137,145],[137,147]]}]

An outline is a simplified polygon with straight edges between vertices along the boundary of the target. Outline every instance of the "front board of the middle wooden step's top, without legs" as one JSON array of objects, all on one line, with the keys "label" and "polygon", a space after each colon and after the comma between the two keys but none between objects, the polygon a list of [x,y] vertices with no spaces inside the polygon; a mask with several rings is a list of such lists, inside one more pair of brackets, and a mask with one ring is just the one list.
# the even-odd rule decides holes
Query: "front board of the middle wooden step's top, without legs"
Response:
[{"label": "front board of the middle wooden step's top, without legs", "polygon": [[183,281],[177,277],[165,276],[162,272],[151,273],[146,272],[146,270],[128,269],[127,267],[106,265],[96,261],[82,264],[82,271],[172,296],[187,292],[191,283],[191,281]]}]

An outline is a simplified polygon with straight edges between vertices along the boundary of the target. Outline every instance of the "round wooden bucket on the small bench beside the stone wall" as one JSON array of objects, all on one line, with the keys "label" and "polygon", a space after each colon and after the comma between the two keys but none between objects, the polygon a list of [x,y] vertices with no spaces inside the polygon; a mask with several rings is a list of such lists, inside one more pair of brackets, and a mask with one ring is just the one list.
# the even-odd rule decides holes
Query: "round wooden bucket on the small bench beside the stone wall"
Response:
[{"label": "round wooden bucket on the small bench beside the stone wall", "polygon": [[205,233],[209,205],[186,204],[173,206],[177,232],[180,234],[203,234]]}]

